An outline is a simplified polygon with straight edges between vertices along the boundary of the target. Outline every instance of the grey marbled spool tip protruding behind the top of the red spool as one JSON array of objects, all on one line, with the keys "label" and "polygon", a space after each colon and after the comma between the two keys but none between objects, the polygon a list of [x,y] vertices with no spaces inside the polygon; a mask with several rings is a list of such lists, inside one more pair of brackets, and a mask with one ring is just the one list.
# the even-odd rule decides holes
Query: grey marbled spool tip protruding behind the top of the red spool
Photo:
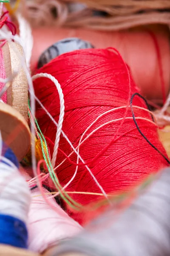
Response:
[{"label": "grey marbled spool tip protruding behind the top of the red spool", "polygon": [[52,59],[56,58],[57,56],[65,53],[65,52],[72,52],[79,49],[89,49],[94,48],[91,43],[88,41],[84,41],[79,38],[65,38],[57,43],[51,45],[39,58],[37,67],[40,68],[50,62]]}]

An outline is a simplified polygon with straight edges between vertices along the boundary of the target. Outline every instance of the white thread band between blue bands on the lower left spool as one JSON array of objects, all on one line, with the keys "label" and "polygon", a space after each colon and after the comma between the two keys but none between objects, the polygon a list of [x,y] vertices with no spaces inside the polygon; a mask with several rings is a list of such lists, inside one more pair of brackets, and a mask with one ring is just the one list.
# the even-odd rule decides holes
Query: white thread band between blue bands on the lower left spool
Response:
[{"label": "white thread band between blue bands on the lower left spool", "polygon": [[27,223],[31,195],[17,167],[0,157],[0,213],[14,216]]}]

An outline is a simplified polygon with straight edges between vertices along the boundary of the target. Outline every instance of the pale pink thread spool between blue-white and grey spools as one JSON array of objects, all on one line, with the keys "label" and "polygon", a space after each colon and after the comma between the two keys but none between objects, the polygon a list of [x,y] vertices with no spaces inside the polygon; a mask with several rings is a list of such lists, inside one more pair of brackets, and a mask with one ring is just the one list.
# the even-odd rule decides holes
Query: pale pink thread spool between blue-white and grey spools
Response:
[{"label": "pale pink thread spool between blue-white and grey spools", "polygon": [[42,253],[59,241],[77,235],[82,227],[61,209],[47,189],[42,189],[46,200],[38,188],[31,191],[32,201],[28,214],[29,241],[31,251]]}]

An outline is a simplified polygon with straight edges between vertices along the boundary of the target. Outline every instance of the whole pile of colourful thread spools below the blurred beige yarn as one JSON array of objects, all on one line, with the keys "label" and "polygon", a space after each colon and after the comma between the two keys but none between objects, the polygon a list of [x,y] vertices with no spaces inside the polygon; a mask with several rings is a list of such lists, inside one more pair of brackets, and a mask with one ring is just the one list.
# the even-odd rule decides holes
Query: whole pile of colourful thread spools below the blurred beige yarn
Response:
[{"label": "whole pile of colourful thread spools below the blurred beige yarn", "polygon": [[0,2],[0,255],[168,255],[168,28],[32,38]]}]

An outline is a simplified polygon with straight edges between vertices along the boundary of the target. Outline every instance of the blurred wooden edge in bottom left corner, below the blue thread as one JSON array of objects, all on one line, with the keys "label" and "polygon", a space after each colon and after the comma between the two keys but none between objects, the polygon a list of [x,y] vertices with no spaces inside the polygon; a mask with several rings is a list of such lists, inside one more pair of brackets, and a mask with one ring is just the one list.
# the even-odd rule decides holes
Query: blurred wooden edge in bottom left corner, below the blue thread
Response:
[{"label": "blurred wooden edge in bottom left corner, below the blue thread", "polygon": [[0,244],[0,256],[40,256],[38,253]]}]

